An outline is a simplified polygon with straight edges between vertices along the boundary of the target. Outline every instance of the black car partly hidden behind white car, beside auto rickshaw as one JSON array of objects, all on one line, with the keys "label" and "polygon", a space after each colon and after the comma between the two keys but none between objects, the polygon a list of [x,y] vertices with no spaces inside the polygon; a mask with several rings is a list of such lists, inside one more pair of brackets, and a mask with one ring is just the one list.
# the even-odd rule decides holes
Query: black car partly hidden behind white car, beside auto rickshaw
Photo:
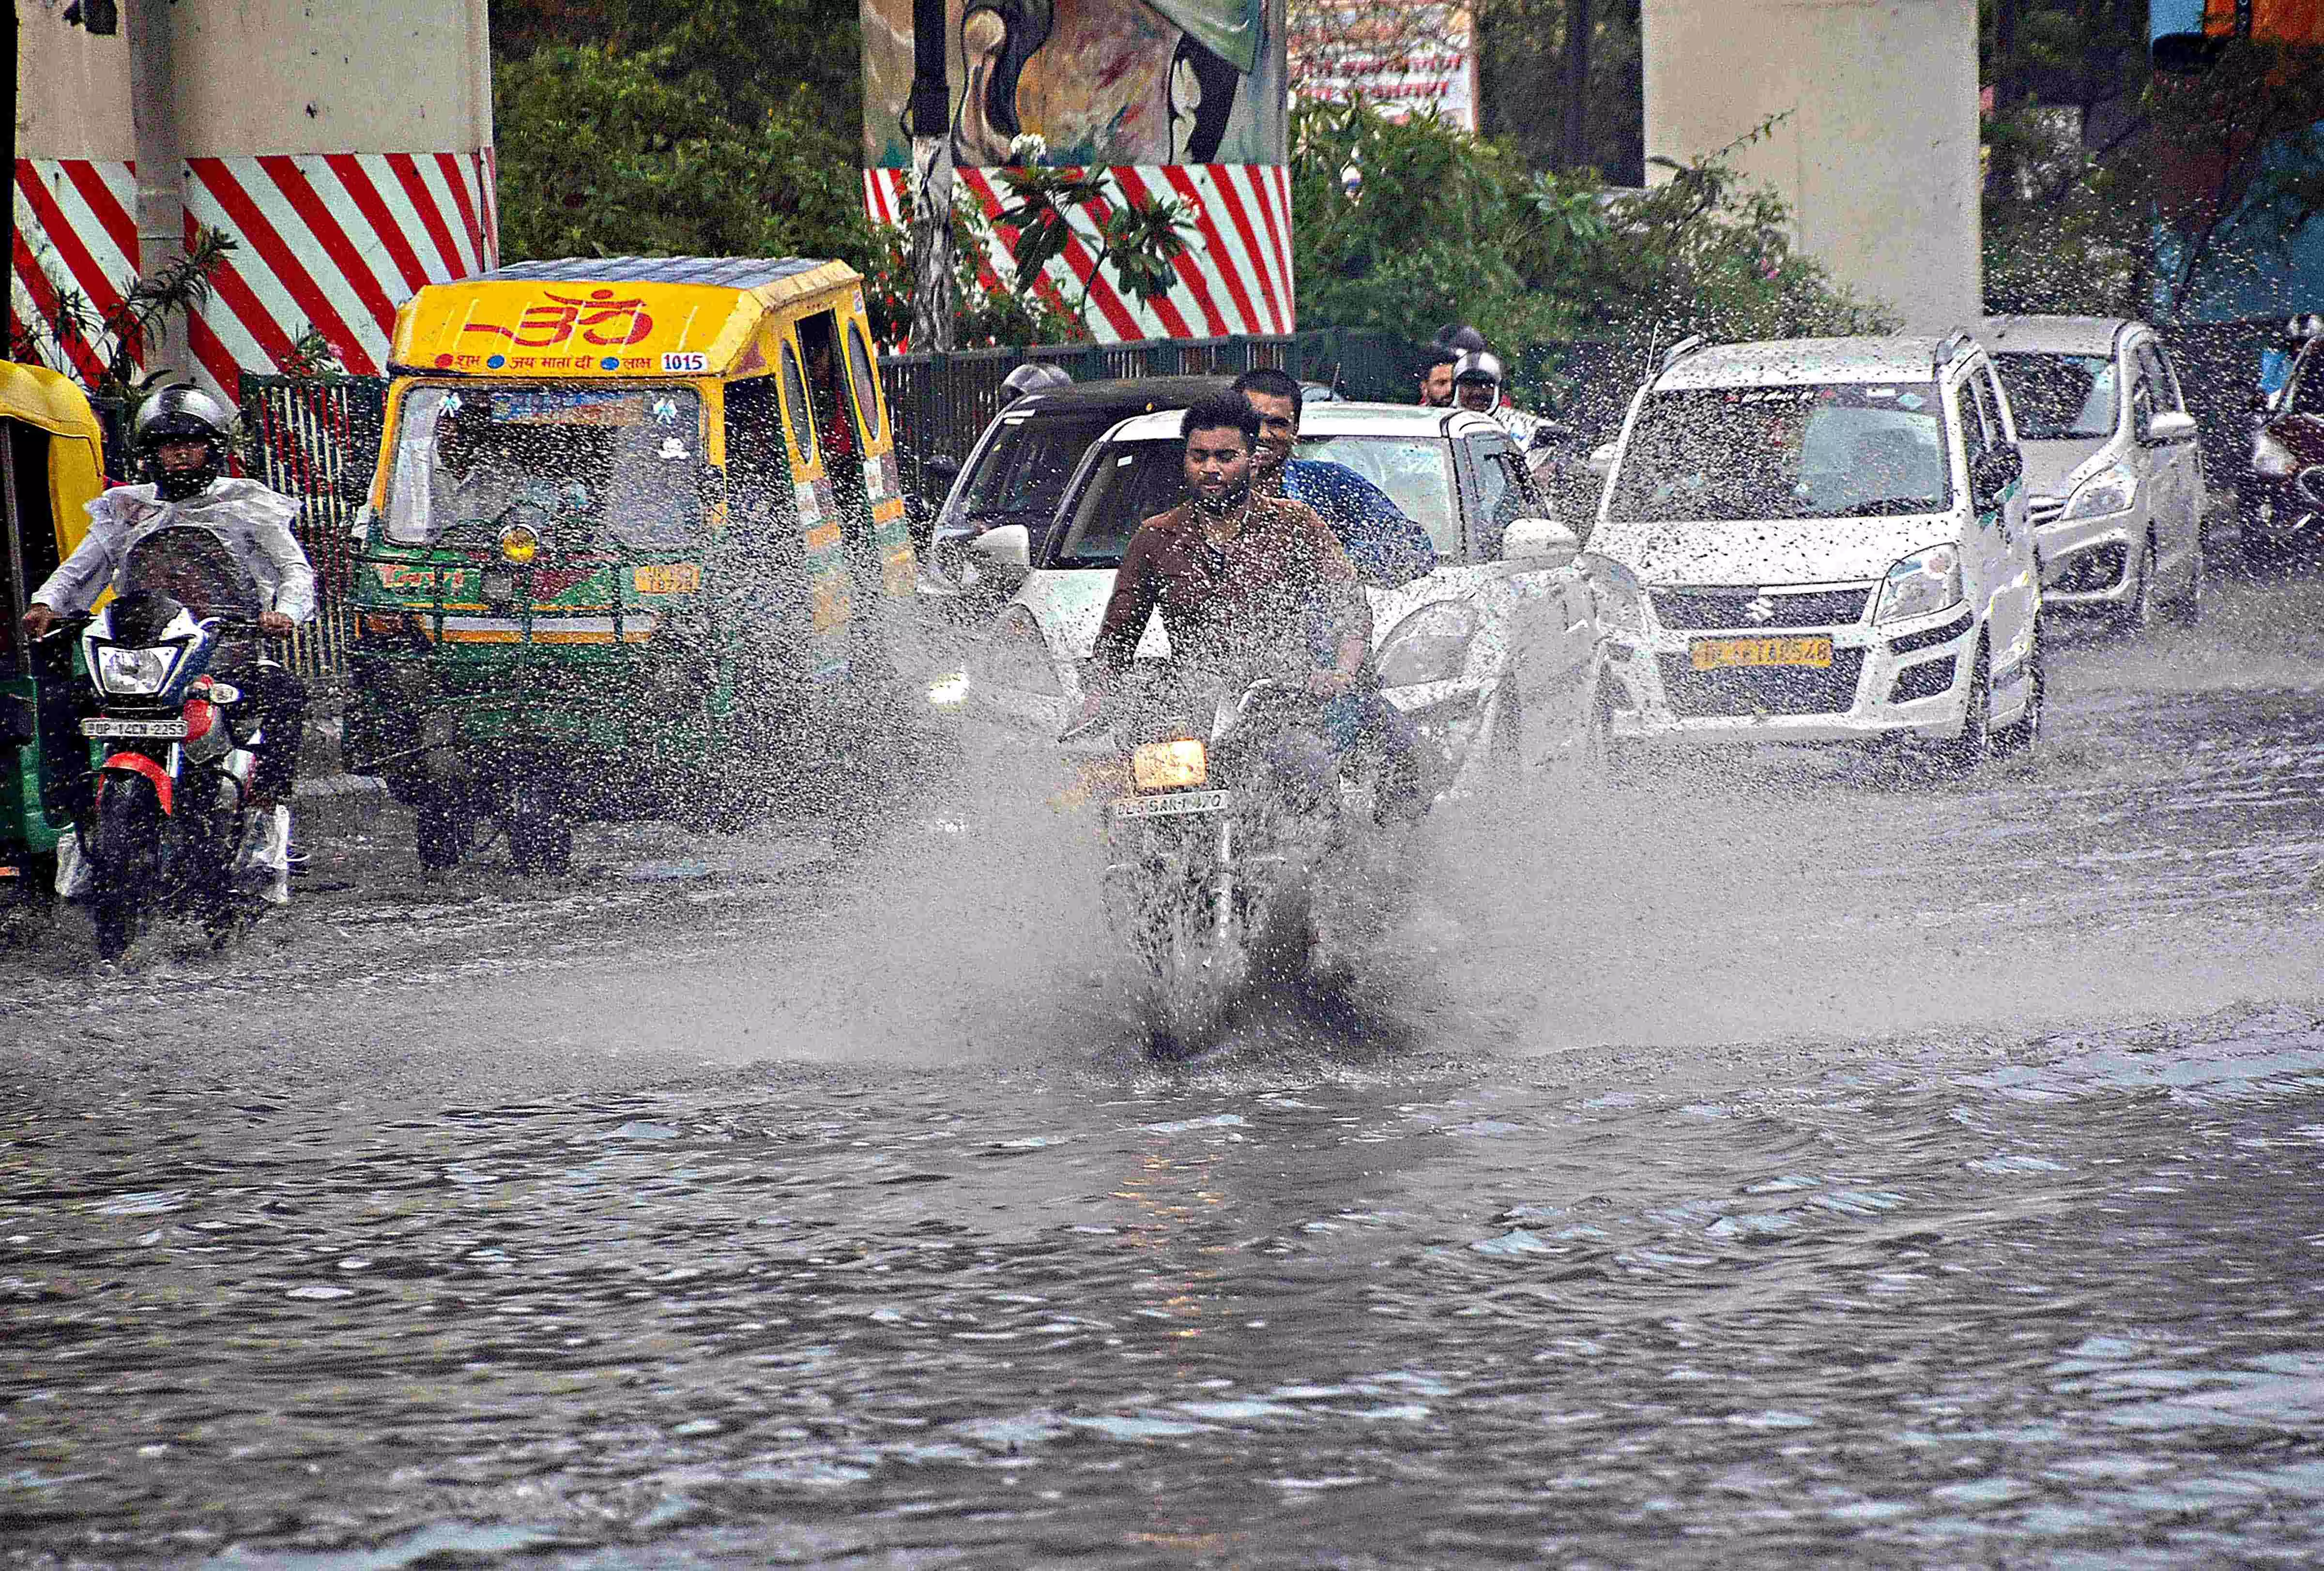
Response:
[{"label": "black car partly hidden behind white car, beside auto rickshaw", "polygon": [[[971,595],[981,588],[967,544],[1004,523],[1023,523],[1039,560],[1064,486],[1099,437],[1134,414],[1185,409],[1225,393],[1232,376],[1136,376],[1081,381],[1027,393],[1002,409],[976,439],[967,465],[944,497],[927,548],[920,553],[920,593]],[[1006,588],[983,586],[1006,597]],[[1013,586],[1011,586],[1013,588]]]}]

